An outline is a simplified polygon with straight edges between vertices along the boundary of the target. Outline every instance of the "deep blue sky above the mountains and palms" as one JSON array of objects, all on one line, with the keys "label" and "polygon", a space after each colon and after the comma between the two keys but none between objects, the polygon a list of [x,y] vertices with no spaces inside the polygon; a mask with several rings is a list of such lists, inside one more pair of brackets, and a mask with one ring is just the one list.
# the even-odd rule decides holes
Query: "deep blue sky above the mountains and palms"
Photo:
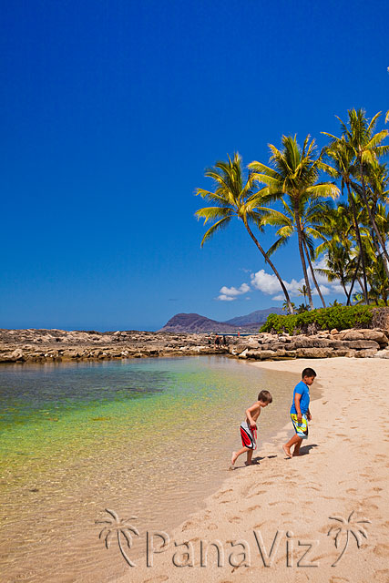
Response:
[{"label": "deep blue sky above the mountains and palms", "polygon": [[[281,305],[253,289],[265,266],[240,224],[200,249],[194,191],[235,150],[266,163],[282,134],[322,146],[335,115],[386,111],[388,12],[360,0],[4,5],[0,327],[153,330],[177,312]],[[302,278],[295,240],[273,260]],[[250,292],[215,299],[242,283]]]}]

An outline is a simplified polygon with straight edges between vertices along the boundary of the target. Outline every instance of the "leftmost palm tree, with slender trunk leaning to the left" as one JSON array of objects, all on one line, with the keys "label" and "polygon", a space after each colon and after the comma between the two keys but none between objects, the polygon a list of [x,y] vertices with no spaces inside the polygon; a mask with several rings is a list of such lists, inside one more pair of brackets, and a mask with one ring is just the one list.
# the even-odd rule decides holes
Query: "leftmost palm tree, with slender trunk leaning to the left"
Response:
[{"label": "leftmost palm tree, with slender trunk leaning to the left", "polygon": [[254,188],[252,173],[249,172],[247,179],[244,180],[241,169],[241,156],[235,153],[232,160],[229,156],[227,162],[219,161],[214,167],[207,169],[205,176],[214,180],[216,189],[214,192],[206,189],[196,190],[196,195],[200,195],[202,199],[207,199],[215,205],[196,211],[196,216],[199,219],[204,219],[204,224],[209,221],[213,222],[213,225],[201,240],[201,247],[217,230],[225,229],[230,220],[233,218],[240,219],[251,236],[251,240],[254,241],[264,260],[270,265],[271,270],[280,282],[282,292],[286,302],[288,302],[289,312],[293,313],[292,302],[280,273],[276,270],[251,230],[251,224],[255,224],[260,231],[263,229],[261,225],[262,213],[255,209],[258,200],[261,199],[261,191]]}]

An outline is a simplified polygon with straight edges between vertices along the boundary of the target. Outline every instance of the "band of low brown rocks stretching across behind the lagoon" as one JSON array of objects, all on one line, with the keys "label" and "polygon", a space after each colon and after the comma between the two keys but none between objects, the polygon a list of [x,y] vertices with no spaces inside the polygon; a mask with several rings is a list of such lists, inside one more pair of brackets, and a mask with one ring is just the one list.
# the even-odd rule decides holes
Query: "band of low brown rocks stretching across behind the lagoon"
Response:
[{"label": "band of low brown rocks stretching across behind the lagoon", "polygon": [[125,358],[225,354],[240,359],[389,358],[389,330],[358,329],[292,336],[258,333],[226,336],[214,345],[208,333],[0,330],[0,363],[59,363]]}]

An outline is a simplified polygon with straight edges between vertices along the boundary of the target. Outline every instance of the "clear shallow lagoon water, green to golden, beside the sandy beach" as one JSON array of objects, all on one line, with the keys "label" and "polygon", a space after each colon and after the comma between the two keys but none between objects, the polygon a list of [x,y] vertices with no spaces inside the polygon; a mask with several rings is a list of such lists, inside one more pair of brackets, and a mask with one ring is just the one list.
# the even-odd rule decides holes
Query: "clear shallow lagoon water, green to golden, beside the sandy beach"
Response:
[{"label": "clear shallow lagoon water, green to golden, beside the sandy beach", "polygon": [[222,356],[1,366],[0,579],[120,575],[98,539],[106,509],[169,531],[228,476],[259,391],[261,455],[297,380]]}]

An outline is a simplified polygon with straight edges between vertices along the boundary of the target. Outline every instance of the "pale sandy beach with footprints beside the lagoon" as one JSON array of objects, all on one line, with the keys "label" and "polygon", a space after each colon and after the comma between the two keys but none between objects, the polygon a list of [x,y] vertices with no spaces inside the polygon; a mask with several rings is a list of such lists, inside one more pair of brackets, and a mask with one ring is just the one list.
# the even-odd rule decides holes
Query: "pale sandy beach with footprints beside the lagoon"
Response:
[{"label": "pale sandy beach with footprints beside the lagoon", "polygon": [[[252,365],[293,373],[296,383],[305,366],[318,374],[321,396],[311,403],[302,455],[286,459],[282,453],[292,435],[287,411],[285,427],[271,442],[261,442],[260,423],[258,464],[245,467],[241,456],[204,510],[190,515],[189,502],[188,519],[166,533],[163,552],[157,552],[162,538],[156,533],[147,536],[139,528],[131,549],[122,538],[127,556],[137,547],[138,558],[118,583],[389,580],[389,362],[336,358]],[[102,552],[107,562],[116,556],[117,540]]]}]

